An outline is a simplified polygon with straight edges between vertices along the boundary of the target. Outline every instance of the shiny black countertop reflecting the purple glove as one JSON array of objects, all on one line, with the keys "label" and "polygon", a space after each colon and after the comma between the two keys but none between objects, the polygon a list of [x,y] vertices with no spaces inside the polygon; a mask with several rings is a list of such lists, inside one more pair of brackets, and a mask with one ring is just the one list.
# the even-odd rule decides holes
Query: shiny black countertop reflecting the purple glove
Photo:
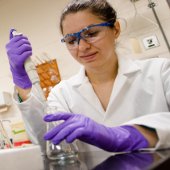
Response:
[{"label": "shiny black countertop reflecting the purple glove", "polygon": [[168,170],[170,150],[112,154],[82,152],[74,163],[59,164],[45,159],[45,170]]}]

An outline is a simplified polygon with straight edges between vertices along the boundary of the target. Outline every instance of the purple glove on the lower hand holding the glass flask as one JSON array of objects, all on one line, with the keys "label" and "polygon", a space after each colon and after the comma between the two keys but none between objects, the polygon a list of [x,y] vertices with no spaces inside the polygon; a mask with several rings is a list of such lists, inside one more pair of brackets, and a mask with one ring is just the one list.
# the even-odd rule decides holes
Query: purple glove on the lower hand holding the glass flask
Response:
[{"label": "purple glove on the lower hand holding the glass flask", "polygon": [[64,120],[44,135],[45,140],[59,144],[79,139],[110,152],[134,151],[148,147],[148,141],[133,126],[106,127],[88,117],[72,113],[54,113],[44,117],[46,122]]}]

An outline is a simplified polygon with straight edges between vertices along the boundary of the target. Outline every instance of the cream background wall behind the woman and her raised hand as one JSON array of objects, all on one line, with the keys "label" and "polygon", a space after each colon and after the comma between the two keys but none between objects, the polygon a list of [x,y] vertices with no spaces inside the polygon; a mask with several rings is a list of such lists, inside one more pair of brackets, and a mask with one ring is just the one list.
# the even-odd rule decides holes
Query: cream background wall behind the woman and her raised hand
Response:
[{"label": "cream background wall behind the woman and her raised hand", "polygon": [[[61,9],[68,2],[69,0],[0,0],[0,91],[13,93],[14,85],[5,52],[10,28],[16,28],[29,37],[34,56],[47,52],[51,58],[57,58],[62,79],[78,71],[79,64],[60,43],[59,18]],[[153,2],[156,3],[155,10],[170,42],[170,8],[166,0]],[[163,36],[156,25],[152,10],[148,7],[148,0],[139,0],[135,5],[130,0],[110,0],[110,3],[117,10],[122,26],[122,34],[118,40],[121,54],[135,58],[169,57]],[[146,50],[142,41],[151,35],[156,35],[160,45]],[[14,103],[7,112],[0,113],[1,119],[20,116]]]}]

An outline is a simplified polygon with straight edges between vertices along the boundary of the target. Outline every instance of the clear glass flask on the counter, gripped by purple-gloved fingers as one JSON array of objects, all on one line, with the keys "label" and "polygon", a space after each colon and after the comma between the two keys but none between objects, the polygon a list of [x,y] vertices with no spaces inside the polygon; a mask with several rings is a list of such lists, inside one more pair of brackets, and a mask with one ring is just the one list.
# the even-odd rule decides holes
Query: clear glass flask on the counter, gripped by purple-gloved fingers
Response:
[{"label": "clear glass flask on the counter, gripped by purple-gloved fingers", "polygon": [[[46,113],[55,113],[57,108],[55,106],[47,106]],[[58,122],[48,122],[47,131],[60,124]],[[65,165],[68,163],[74,163],[77,160],[78,147],[76,141],[73,143],[67,143],[65,140],[58,145],[54,145],[51,141],[46,142],[46,154],[50,160],[57,161],[58,164]]]}]

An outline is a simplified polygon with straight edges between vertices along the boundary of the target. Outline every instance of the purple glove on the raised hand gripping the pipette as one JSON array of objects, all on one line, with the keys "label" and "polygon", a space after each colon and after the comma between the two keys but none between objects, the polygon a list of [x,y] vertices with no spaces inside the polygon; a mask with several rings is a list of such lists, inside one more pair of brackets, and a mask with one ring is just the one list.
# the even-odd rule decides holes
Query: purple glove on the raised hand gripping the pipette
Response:
[{"label": "purple glove on the raised hand gripping the pipette", "polygon": [[25,71],[24,63],[32,55],[32,47],[27,37],[23,35],[13,37],[13,31],[15,30],[10,30],[10,41],[6,45],[13,82],[23,89],[28,89],[32,87],[32,83]]}]

